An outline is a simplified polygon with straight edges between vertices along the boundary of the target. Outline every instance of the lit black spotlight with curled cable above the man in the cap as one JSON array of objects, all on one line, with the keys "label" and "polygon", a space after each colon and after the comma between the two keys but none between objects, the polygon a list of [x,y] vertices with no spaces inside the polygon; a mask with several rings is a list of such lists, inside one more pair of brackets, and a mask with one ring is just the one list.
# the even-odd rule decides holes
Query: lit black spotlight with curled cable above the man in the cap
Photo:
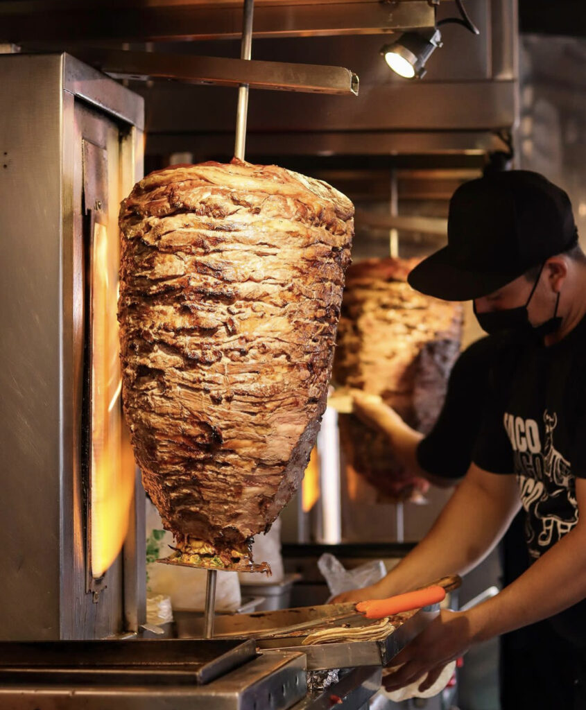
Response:
[{"label": "lit black spotlight with curled cable above the man in the cap", "polygon": [[435,27],[427,32],[406,32],[400,35],[391,44],[384,45],[381,55],[384,60],[401,77],[406,79],[420,79],[425,75],[425,62],[442,46],[440,26],[454,23],[464,26],[473,34],[479,34],[477,26],[468,16],[462,0],[456,0],[460,17],[448,17],[435,23]]}]

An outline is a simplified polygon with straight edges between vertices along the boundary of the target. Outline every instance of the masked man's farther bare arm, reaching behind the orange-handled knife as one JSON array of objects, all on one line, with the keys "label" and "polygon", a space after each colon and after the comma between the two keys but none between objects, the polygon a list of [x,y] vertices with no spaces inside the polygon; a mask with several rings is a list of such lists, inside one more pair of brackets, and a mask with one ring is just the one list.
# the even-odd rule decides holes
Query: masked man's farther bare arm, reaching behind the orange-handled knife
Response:
[{"label": "masked man's farther bare arm, reaching behind the orange-handled knife", "polygon": [[381,581],[344,592],[335,601],[384,599],[447,574],[465,574],[499,542],[519,506],[514,476],[490,474],[472,464],[417,547]]}]

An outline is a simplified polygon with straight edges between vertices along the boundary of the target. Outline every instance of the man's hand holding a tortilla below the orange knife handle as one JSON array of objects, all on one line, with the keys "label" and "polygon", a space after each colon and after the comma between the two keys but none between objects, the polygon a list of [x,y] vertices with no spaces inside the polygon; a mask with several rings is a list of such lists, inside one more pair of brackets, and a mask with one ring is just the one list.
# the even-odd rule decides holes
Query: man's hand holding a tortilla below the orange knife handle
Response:
[{"label": "man's hand holding a tortilla below the orange knife handle", "polygon": [[[430,688],[443,668],[470,648],[470,623],[465,612],[442,610],[437,618],[392,660],[396,671],[383,674],[383,685],[398,690],[428,674],[420,691]],[[384,671],[383,671],[384,673]]]}]

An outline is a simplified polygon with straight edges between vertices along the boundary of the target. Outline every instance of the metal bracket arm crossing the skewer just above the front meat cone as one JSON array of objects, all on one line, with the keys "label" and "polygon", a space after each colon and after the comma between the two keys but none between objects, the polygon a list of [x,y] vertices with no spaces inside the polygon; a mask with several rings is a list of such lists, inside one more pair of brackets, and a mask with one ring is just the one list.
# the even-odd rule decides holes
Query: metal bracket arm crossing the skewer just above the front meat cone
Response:
[{"label": "metal bracket arm crossing the skewer just above the front meat cone", "polygon": [[125,79],[174,79],[231,87],[248,84],[252,89],[358,95],[358,76],[344,67],[93,48],[84,48],[76,55],[109,75]]}]

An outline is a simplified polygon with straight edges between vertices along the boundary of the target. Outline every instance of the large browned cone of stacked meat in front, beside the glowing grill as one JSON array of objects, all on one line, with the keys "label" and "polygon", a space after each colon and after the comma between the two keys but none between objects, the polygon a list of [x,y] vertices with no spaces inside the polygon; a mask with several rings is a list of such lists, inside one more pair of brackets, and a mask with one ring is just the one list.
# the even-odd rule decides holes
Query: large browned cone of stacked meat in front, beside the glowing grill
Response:
[{"label": "large browned cone of stacked meat in front, beside the glowing grill", "polygon": [[178,564],[252,569],[325,410],[352,203],[275,165],[180,165],[121,204],[124,411]]}]

